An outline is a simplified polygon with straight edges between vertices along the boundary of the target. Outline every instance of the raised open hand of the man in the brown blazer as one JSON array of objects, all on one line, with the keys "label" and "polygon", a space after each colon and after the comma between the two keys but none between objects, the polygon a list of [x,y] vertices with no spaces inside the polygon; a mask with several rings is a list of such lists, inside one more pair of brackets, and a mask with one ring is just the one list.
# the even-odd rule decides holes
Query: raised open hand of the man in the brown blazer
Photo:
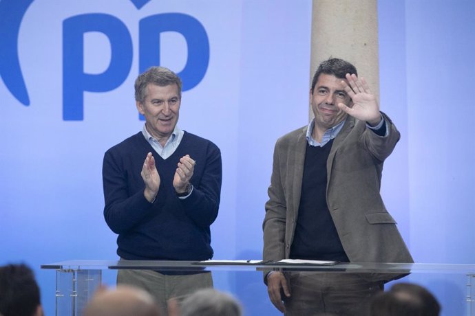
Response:
[{"label": "raised open hand of the man in the brown blazer", "polygon": [[377,126],[381,121],[379,104],[366,80],[358,78],[355,74],[346,74],[346,80],[348,83],[342,80],[341,84],[344,84],[344,89],[352,100],[352,106],[339,103],[338,107],[357,120],[366,121],[370,126]]}]

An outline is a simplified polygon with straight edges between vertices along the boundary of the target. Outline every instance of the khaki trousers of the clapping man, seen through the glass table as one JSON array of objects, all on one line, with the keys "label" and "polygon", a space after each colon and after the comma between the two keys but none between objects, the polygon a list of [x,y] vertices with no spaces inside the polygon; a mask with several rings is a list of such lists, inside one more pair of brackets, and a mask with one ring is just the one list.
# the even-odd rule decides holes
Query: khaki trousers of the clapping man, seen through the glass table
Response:
[{"label": "khaki trousers of the clapping man, seen through the glass table", "polygon": [[181,301],[198,289],[213,287],[211,272],[188,275],[166,275],[152,270],[119,270],[117,284],[136,286],[151,293],[167,315],[167,301],[176,298]]}]

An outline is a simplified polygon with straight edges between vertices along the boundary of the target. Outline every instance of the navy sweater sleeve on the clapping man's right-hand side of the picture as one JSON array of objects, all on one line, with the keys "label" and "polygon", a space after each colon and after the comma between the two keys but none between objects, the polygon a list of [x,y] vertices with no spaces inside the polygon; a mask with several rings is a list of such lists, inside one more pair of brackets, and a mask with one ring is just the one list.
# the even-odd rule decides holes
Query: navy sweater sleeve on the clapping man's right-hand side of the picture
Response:
[{"label": "navy sweater sleeve on the clapping man's right-hand side of the picture", "polygon": [[222,182],[221,152],[218,146],[209,144],[200,183],[193,183],[193,192],[180,200],[187,215],[199,227],[209,228],[218,216]]}]

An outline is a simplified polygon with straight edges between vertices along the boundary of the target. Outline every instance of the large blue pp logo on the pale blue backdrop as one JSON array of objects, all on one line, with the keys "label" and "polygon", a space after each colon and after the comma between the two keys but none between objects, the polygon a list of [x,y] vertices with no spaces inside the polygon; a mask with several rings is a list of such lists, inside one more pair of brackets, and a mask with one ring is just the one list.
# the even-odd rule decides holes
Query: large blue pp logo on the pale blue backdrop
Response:
[{"label": "large blue pp logo on the pale blue backdrop", "polygon": [[[126,1],[126,0],[123,0]],[[149,0],[129,0],[140,10]],[[33,0],[0,1],[0,75],[6,87],[23,105],[30,105],[19,64],[17,41],[21,20]],[[101,32],[109,39],[110,62],[101,74],[87,74],[84,69],[83,35]],[[209,39],[203,25],[193,16],[165,13],[139,21],[139,73],[160,65],[160,33],[178,32],[184,36],[187,62],[178,74],[182,91],[196,87],[204,78],[209,64]],[[127,78],[133,56],[132,38],[126,25],[116,16],[91,13],[72,16],[63,21],[63,120],[83,120],[83,93],[116,89]]]}]

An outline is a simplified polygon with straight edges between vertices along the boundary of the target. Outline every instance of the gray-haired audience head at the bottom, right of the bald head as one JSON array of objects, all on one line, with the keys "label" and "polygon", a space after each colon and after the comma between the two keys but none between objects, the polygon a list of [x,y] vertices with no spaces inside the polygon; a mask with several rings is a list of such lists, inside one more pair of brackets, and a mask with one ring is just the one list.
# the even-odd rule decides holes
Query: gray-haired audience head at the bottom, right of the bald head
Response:
[{"label": "gray-haired audience head at the bottom, right of the bald head", "polygon": [[234,297],[215,289],[201,289],[185,298],[180,316],[241,316],[242,308]]}]

